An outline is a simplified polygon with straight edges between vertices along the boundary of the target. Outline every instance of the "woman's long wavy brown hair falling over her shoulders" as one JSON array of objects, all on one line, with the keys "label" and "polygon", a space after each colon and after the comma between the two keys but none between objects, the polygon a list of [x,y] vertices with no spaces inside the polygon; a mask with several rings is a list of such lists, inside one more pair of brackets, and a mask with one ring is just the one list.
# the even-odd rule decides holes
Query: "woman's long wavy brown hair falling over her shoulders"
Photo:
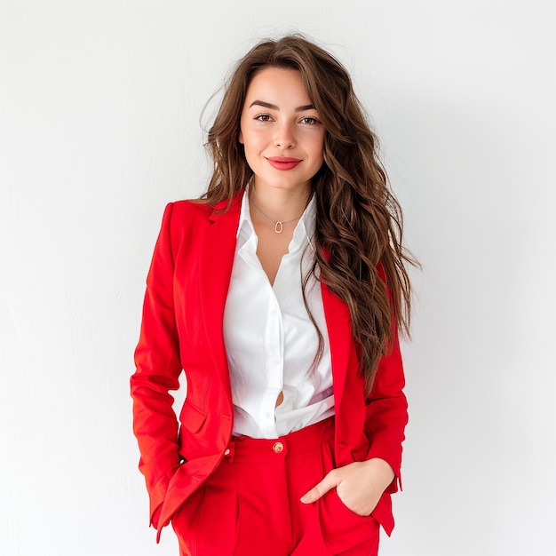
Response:
[{"label": "woman's long wavy brown hair falling over her shoulders", "polygon": [[290,35],[257,44],[239,61],[208,134],[213,173],[200,201],[231,203],[249,182],[253,172],[239,142],[240,117],[251,80],[268,67],[302,75],[325,128],[324,163],[312,181],[317,206],[312,272],[349,308],[369,393],[394,334],[409,334],[406,263],[417,262],[402,246],[401,208],[379,160],[377,138],[338,60],[305,37]]}]

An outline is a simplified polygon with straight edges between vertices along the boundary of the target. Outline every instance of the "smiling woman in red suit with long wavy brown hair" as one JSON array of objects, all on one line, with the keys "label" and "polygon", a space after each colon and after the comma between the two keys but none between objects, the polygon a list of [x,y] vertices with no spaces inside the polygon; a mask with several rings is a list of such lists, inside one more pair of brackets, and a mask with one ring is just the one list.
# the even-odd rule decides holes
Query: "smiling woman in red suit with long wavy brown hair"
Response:
[{"label": "smiling woman in red suit with long wavy brown hair", "polygon": [[164,212],[131,377],[151,523],[181,554],[377,554],[412,260],[349,75],[301,36],[258,44],[208,148],[206,194]]}]

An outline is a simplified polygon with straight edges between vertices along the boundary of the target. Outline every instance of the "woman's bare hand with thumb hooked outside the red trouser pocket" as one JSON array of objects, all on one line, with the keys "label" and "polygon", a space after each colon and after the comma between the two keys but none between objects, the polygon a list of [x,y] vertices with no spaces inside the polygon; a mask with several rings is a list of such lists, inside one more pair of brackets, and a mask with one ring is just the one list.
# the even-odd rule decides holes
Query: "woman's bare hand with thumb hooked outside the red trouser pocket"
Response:
[{"label": "woman's bare hand with thumb hooked outside the red trouser pocket", "polygon": [[353,462],[330,471],[319,484],[301,497],[301,502],[311,504],[330,488],[336,488],[338,497],[348,509],[358,515],[370,515],[393,477],[392,467],[379,457]]}]

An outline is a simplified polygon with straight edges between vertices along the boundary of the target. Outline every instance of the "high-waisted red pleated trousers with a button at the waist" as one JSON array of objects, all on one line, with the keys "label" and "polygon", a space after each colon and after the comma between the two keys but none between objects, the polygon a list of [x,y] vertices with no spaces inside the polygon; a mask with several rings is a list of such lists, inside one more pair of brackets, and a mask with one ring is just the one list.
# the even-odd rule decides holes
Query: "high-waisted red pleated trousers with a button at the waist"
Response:
[{"label": "high-waisted red pleated trousers with a button at the waist", "polygon": [[334,418],[276,440],[234,438],[172,520],[181,556],[376,556],[378,522],[333,488],[299,498],[334,468]]}]

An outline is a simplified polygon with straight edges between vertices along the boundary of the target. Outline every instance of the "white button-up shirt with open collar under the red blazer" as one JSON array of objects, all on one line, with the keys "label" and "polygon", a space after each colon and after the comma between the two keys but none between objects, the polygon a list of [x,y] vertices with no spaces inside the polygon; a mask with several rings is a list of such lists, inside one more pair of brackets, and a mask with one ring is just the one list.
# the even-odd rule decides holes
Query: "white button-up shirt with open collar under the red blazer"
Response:
[{"label": "white button-up shirt with open collar under the red blazer", "polygon": [[[224,341],[234,401],[234,434],[277,438],[334,414],[330,344],[320,283],[306,299],[322,333],[324,353],[312,369],[318,336],[303,302],[301,276],[314,260],[314,199],[299,219],[274,285],[257,257],[258,237],[242,199],[234,267],[224,313]],[[280,393],[282,403],[276,407]]]}]

